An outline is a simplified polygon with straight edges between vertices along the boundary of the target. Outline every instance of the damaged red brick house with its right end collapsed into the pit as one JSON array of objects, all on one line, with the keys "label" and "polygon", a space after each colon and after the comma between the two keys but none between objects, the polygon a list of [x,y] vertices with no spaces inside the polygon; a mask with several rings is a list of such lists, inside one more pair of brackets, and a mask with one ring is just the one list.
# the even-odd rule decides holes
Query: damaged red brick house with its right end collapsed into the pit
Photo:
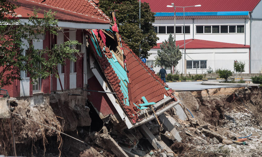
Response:
[{"label": "damaged red brick house with its right end collapsed into the pit", "polygon": [[[91,119],[86,104],[91,104],[105,123],[112,122],[119,130],[142,125],[144,136],[156,150],[167,145],[163,141],[157,141],[144,125],[153,119],[170,132],[173,141],[181,141],[177,130],[163,115],[173,109],[180,119],[186,119],[182,103],[174,91],[125,44],[118,34],[114,12],[113,20],[110,21],[97,7],[97,1],[81,2],[83,3],[61,0],[13,2],[20,5],[15,10],[19,20],[27,21],[28,14],[34,8],[41,8],[38,13],[40,18],[44,11],[56,11],[55,17],[63,32],[57,30],[57,36],[51,36],[47,32],[40,41],[33,41],[35,48],[51,48],[52,45],[66,40],[78,40],[82,45],[78,47],[81,57],[76,62],[66,60],[65,66],[57,65],[59,78],[51,75],[32,83],[26,72],[21,71],[21,81],[16,80],[10,86],[3,87],[11,97],[9,102],[19,107],[19,102],[25,100],[27,108],[50,105],[51,115],[64,119],[64,131],[74,131],[77,126],[89,126]],[[25,46],[24,53],[26,49]],[[3,105],[5,104],[1,103]],[[23,109],[16,111],[17,105],[14,113],[18,114]],[[39,122],[42,119],[39,118]],[[56,121],[60,121],[57,119]],[[48,124],[46,121],[43,123]],[[57,125],[60,124],[57,122]],[[55,133],[49,135],[53,136]],[[30,140],[29,137],[25,138]],[[25,138],[18,140],[23,143]],[[172,154],[168,147],[166,151]]]}]

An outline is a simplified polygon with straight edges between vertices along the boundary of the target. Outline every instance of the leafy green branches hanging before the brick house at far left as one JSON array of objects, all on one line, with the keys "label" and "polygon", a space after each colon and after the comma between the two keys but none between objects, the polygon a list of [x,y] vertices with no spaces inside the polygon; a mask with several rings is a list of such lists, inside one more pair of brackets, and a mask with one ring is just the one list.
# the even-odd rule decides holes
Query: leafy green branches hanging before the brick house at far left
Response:
[{"label": "leafy green branches hanging before the brick house at far left", "polygon": [[[51,10],[44,12],[44,18],[38,18],[37,10],[29,18],[29,21],[17,20],[14,9],[16,6],[8,0],[1,0],[0,19],[5,25],[0,25],[0,87],[10,85],[13,80],[21,80],[20,71],[27,71],[32,79],[45,79],[51,74],[57,75],[57,64],[64,65],[65,59],[76,61],[73,54],[79,50],[72,49],[70,45],[79,45],[78,41],[66,41],[61,45],[54,45],[52,49],[43,48],[35,50],[34,41],[39,41],[40,36],[46,32],[57,35],[55,13]],[[23,55],[23,47],[27,47],[26,55]]]}]

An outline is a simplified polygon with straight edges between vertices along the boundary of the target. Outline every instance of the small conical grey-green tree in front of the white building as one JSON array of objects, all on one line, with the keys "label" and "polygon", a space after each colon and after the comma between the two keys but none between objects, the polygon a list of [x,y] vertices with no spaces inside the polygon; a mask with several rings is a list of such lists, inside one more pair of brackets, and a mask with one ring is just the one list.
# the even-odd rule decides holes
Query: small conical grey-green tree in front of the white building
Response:
[{"label": "small conical grey-green tree in front of the white building", "polygon": [[168,37],[168,40],[165,40],[162,44],[160,44],[160,48],[161,50],[158,50],[158,55],[155,57],[155,66],[163,65],[165,68],[172,68],[172,66],[176,66],[178,61],[182,58],[179,46],[176,46],[176,41],[174,40],[171,33]]}]

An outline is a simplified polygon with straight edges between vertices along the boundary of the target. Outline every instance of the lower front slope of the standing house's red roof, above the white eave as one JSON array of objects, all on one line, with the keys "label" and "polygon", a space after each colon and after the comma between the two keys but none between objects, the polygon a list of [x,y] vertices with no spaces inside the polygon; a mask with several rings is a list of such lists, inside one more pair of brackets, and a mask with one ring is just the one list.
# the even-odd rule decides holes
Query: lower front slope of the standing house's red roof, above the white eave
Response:
[{"label": "lower front slope of the standing house's red roof, above the white eave", "polygon": [[[15,12],[17,13],[17,15],[22,16],[20,18],[29,18],[30,16],[33,15],[34,9],[40,8],[41,10],[37,11],[38,12],[37,15],[39,18],[43,18],[44,12],[45,11],[48,12],[51,9],[53,12],[56,12],[55,17],[59,21],[72,21],[72,22],[94,23],[94,24],[109,24],[109,21],[105,21],[104,18],[101,19],[97,17],[86,16],[86,15],[79,14],[76,12],[66,11],[64,9],[60,9],[57,7],[51,7],[51,6],[47,6],[44,4],[31,2],[28,0],[17,0],[17,2],[13,1],[12,3],[16,5],[20,5],[20,7],[15,9]],[[29,14],[29,16],[27,14]]]}]

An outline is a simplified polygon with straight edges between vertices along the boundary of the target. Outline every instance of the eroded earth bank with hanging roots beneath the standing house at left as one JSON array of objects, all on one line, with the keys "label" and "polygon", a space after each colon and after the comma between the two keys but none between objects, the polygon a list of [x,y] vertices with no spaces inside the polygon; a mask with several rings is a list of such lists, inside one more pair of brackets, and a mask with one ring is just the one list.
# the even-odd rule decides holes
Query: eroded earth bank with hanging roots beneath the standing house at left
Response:
[{"label": "eroded earth bank with hanging roots beneath the standing house at left", "polygon": [[41,95],[41,98],[33,96],[10,99],[12,112],[15,114],[12,114],[12,120],[0,119],[0,154],[15,156],[13,141],[16,144],[17,155],[23,154],[27,147],[33,150],[32,152],[36,152],[34,150],[37,150],[37,145],[34,143],[42,143],[42,148],[45,150],[45,145],[49,143],[48,139],[52,136],[56,138],[54,141],[59,147],[62,144],[61,136],[53,129],[65,132],[76,131],[78,126],[90,126],[91,118],[89,108],[85,106],[85,96],[69,95],[72,92],[86,95],[81,90],[75,90],[54,93],[50,96]]}]

